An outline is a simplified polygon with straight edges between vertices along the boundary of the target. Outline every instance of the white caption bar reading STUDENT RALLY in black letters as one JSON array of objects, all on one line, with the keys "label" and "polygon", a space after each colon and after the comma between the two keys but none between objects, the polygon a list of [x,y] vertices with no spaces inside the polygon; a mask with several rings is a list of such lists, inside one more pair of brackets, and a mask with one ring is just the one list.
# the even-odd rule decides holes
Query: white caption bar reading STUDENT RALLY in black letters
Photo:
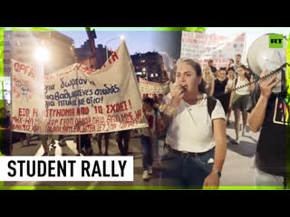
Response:
[{"label": "white caption bar reading STUDENT RALLY in black letters", "polygon": [[133,181],[133,156],[1,156],[0,181]]}]

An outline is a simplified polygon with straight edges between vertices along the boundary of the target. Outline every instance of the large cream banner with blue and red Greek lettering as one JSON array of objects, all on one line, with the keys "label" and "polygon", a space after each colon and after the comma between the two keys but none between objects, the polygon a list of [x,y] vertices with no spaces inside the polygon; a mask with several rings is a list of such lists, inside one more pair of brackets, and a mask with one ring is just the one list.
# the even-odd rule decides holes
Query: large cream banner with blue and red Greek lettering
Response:
[{"label": "large cream banner with blue and red Greek lettering", "polygon": [[125,42],[94,70],[74,63],[41,75],[12,61],[12,128],[33,134],[94,134],[148,127]]}]

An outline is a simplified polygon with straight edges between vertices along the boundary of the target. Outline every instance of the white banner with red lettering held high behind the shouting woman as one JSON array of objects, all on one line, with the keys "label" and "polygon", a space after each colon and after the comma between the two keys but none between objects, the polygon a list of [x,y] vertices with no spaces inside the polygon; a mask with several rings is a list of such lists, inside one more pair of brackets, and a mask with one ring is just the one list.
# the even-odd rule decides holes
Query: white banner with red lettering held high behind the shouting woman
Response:
[{"label": "white banner with red lettering held high behind the shouting woman", "polygon": [[201,65],[213,60],[217,68],[226,67],[229,59],[241,54],[242,62],[246,55],[246,33],[223,36],[207,33],[182,32],[181,58],[192,58]]}]

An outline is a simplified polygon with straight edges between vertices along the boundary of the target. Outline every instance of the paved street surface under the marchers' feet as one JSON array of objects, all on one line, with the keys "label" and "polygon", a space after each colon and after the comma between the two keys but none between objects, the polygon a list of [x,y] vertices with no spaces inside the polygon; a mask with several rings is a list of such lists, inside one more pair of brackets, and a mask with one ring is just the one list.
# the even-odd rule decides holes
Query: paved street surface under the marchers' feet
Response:
[{"label": "paved street surface under the marchers' feet", "polygon": [[[220,186],[253,186],[254,184],[254,156],[256,152],[256,142],[259,133],[247,131],[245,137],[241,137],[239,145],[234,145],[230,141],[235,138],[235,129],[232,113],[231,123],[227,127],[227,157],[223,167]],[[120,156],[118,146],[113,134],[110,138],[109,155]],[[41,156],[43,148],[41,142],[34,140],[30,146],[21,147],[21,143],[15,143],[13,156]],[[98,156],[99,149],[97,141],[92,140],[93,156]],[[104,140],[102,140],[102,152],[104,152]],[[9,186],[159,186],[159,165],[153,165],[153,175],[150,181],[144,182],[142,176],[142,154],[140,148],[140,137],[131,130],[131,142],[129,148],[130,155],[134,156],[134,182],[5,182]],[[74,156],[77,154],[73,137],[66,138],[66,146],[56,146],[50,150],[50,155]]]}]

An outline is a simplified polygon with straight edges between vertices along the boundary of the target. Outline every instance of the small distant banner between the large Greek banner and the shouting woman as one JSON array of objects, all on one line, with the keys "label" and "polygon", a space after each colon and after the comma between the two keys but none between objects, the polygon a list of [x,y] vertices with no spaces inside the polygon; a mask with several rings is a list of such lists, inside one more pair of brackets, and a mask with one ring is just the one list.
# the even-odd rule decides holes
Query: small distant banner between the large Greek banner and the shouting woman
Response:
[{"label": "small distant banner between the large Greek banner and the shouting woman", "polygon": [[139,88],[142,97],[150,97],[153,98],[154,94],[156,96],[165,96],[169,93],[169,84],[161,84],[157,82],[151,82],[148,80],[144,80],[139,78]]}]

